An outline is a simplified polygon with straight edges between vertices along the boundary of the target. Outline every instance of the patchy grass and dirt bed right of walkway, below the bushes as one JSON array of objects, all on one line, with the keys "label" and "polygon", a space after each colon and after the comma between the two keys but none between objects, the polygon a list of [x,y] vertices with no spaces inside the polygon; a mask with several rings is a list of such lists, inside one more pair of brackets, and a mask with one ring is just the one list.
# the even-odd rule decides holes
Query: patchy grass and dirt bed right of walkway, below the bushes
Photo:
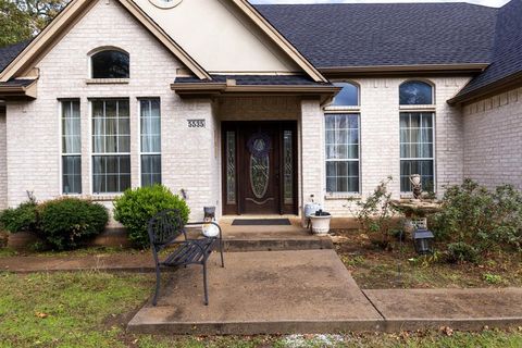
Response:
[{"label": "patchy grass and dirt bed right of walkway, below the bushes", "polygon": [[477,264],[451,264],[444,257],[419,257],[411,243],[391,251],[358,231],[337,231],[335,248],[361,288],[522,287],[522,253],[492,252]]}]

